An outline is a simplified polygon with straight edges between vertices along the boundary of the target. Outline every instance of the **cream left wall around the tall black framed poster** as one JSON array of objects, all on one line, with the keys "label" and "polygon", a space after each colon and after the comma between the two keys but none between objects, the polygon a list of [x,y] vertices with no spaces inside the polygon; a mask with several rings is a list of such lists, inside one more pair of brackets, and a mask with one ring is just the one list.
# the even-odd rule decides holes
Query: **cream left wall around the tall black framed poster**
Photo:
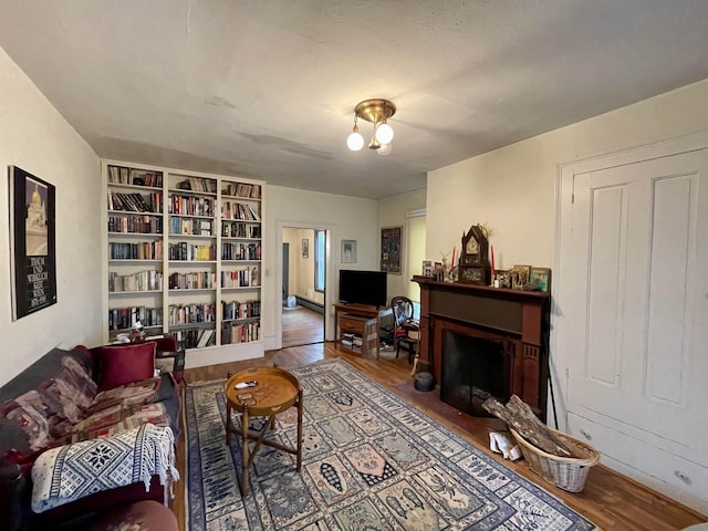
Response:
[{"label": "cream left wall around the tall black framed poster", "polygon": [[54,346],[101,342],[103,209],[97,155],[0,49],[0,168],[56,187],[56,304],[12,321],[7,177],[0,184],[0,385]]}]

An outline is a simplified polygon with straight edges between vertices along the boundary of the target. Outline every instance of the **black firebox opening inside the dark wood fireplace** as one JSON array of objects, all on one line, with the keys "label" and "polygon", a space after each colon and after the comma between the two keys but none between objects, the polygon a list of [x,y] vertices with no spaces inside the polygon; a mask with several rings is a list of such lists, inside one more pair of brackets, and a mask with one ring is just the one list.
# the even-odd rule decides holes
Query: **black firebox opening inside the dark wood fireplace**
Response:
[{"label": "black firebox opening inside the dark wood fireplace", "polygon": [[511,357],[509,342],[442,333],[440,399],[476,417],[490,417],[482,403],[494,396],[510,397]]}]

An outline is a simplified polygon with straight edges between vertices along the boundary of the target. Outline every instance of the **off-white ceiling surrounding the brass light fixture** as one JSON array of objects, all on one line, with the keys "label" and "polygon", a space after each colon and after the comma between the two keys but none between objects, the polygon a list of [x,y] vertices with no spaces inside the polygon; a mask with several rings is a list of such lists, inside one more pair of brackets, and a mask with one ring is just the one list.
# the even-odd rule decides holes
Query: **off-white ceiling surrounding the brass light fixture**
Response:
[{"label": "off-white ceiling surrounding the brass light fixture", "polygon": [[0,46],[102,157],[381,198],[707,79],[708,0],[0,0]]}]

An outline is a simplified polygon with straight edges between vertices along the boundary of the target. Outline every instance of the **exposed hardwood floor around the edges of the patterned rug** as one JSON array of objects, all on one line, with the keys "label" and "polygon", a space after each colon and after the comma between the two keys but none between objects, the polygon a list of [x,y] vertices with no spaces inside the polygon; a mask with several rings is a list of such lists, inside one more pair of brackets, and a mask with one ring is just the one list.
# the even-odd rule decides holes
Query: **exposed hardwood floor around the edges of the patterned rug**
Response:
[{"label": "exposed hardwood floor around the edges of the patterned rug", "polygon": [[[582,513],[604,530],[629,531],[673,531],[694,523],[708,521],[708,518],[680,506],[662,494],[598,465],[587,477],[585,489],[571,493],[545,482],[528,469],[521,460],[511,462],[489,450],[488,430],[500,427],[500,420],[477,418],[466,415],[452,406],[439,400],[437,394],[420,393],[413,387],[410,367],[407,357],[395,360],[395,353],[382,353],[379,361],[344,354],[334,348],[334,343],[313,344],[271,351],[264,358],[236,362],[186,371],[187,382],[225,378],[228,372],[238,372],[257,365],[278,364],[289,368],[305,365],[323,358],[341,357],[372,379],[384,385],[398,396],[418,407],[428,416],[458,433],[482,451],[502,461],[507,467],[543,487],[568,506]],[[177,456],[177,467],[183,480],[175,486],[174,510],[180,530],[185,529],[185,440],[184,430]]]}]

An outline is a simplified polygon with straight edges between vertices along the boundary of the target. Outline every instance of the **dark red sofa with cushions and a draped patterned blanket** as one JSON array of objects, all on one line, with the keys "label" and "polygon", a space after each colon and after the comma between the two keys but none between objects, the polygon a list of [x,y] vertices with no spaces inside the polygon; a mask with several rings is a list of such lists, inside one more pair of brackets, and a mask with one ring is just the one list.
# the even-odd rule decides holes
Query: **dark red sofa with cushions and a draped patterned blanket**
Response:
[{"label": "dark red sofa with cushions and a draped patterned blanket", "polygon": [[180,387],[155,371],[157,346],[53,348],[0,387],[2,529],[93,529],[147,500],[165,509]]}]

